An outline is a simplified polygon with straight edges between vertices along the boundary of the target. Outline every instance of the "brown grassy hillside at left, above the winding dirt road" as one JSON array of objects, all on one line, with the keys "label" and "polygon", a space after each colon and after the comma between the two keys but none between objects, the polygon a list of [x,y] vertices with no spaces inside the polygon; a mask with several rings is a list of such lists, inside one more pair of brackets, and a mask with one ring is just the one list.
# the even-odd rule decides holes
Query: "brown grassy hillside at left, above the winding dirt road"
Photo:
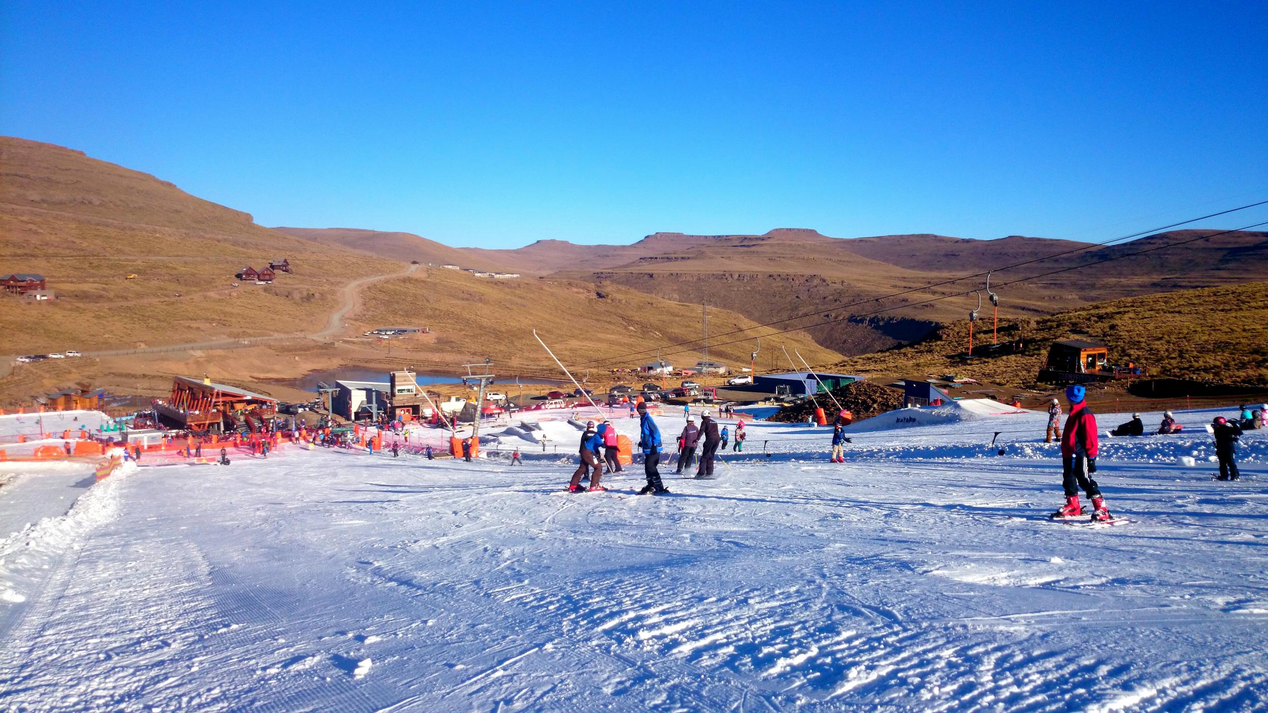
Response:
[{"label": "brown grassy hillside at left, above the winding dirt road", "polygon": [[[41,273],[60,298],[5,298],[0,332],[19,354],[316,331],[344,284],[403,268],[264,228],[148,174],[11,137],[0,137],[0,273]],[[294,273],[231,287],[242,266],[274,258]]]}]

